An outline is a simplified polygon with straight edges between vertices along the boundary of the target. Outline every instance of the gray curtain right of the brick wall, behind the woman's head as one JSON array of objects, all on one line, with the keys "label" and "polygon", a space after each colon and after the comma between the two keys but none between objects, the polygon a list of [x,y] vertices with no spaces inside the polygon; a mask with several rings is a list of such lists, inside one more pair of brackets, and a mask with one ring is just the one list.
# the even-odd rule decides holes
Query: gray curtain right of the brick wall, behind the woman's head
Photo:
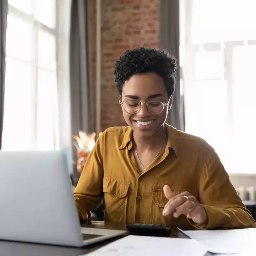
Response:
[{"label": "gray curtain right of the brick wall, behind the woman's head", "polygon": [[168,113],[166,123],[178,130],[185,130],[184,100],[180,96],[180,25],[179,0],[161,0],[160,5],[160,44],[178,59],[176,72],[176,88],[172,108]]}]

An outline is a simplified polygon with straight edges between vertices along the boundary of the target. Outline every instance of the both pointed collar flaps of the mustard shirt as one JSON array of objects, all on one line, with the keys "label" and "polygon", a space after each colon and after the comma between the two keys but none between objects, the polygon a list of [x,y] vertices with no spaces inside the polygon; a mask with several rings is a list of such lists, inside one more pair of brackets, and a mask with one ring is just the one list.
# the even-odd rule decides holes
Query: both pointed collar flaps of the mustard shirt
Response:
[{"label": "both pointed collar flaps of the mustard shirt", "polygon": [[[179,131],[172,127],[169,124],[165,124],[167,129],[167,144],[166,147],[172,148],[176,156],[178,156],[178,149],[179,149]],[[132,141],[132,128],[128,127],[127,131],[124,133],[124,138],[122,144],[120,145],[119,149],[124,149],[129,142]]]}]

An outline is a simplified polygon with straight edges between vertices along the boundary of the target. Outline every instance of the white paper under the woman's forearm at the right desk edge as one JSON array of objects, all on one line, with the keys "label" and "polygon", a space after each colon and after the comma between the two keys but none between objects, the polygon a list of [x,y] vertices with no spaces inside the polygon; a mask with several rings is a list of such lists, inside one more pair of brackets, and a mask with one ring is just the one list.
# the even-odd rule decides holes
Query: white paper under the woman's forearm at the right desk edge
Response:
[{"label": "white paper under the woman's forearm at the right desk edge", "polygon": [[256,228],[228,230],[184,231],[212,253],[254,253],[256,255]]}]

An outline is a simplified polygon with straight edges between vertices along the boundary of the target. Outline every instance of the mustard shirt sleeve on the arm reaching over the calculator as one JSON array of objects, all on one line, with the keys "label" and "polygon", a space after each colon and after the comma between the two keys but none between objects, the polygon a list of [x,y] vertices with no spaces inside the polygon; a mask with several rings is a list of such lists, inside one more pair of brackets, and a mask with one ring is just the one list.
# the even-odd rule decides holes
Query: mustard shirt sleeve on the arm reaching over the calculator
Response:
[{"label": "mustard shirt sleeve on the arm reaching over the calculator", "polygon": [[245,208],[214,150],[208,157],[201,174],[199,202],[204,206],[208,221],[198,225],[190,220],[196,228],[255,227],[252,215]]}]

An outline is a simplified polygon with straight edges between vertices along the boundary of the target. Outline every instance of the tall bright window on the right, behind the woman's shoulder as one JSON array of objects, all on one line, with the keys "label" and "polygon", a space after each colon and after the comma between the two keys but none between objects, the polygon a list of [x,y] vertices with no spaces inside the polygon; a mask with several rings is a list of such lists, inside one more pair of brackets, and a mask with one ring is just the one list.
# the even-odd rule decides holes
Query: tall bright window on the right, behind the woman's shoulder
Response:
[{"label": "tall bright window on the right, behind the woman's shoulder", "polygon": [[256,173],[256,1],[182,2],[186,132],[229,173]]}]

